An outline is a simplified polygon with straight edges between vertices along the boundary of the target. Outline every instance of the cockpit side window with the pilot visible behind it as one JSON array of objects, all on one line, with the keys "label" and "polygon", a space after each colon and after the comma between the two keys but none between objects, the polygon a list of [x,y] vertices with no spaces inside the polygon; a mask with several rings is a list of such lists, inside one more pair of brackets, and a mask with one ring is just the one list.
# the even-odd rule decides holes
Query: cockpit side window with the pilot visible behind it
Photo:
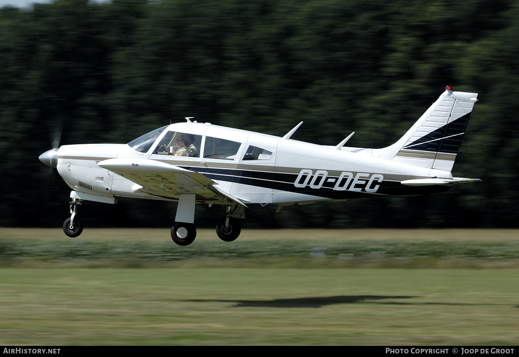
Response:
[{"label": "cockpit side window with the pilot visible behind it", "polygon": [[202,135],[170,131],[157,143],[153,154],[200,157],[201,142]]}]

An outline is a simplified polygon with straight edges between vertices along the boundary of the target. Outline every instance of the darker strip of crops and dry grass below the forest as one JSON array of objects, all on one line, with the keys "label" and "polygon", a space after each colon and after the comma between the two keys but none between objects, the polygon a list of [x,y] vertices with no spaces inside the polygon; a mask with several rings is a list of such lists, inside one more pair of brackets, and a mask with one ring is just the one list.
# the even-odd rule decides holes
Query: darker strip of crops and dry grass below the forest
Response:
[{"label": "darker strip of crops and dry grass below the forest", "polygon": [[[235,242],[200,230],[192,245],[168,229],[0,229],[0,266],[42,267],[519,267],[517,230],[244,230]],[[325,254],[310,256],[312,249]],[[384,252],[384,253],[373,253]]]}]

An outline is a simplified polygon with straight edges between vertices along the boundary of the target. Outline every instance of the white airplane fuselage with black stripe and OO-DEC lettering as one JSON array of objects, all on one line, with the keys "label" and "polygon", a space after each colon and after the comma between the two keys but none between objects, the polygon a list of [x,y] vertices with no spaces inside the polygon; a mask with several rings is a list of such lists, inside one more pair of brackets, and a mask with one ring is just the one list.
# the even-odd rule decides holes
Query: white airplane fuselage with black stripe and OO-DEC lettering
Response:
[{"label": "white airplane fuselage with black stripe and OO-DEC lettering", "polygon": [[[260,204],[436,194],[450,189],[450,185],[405,186],[400,182],[429,177],[452,179],[448,171],[207,123],[176,123],[168,126],[166,132],[197,135],[202,154],[159,154],[154,152],[156,143],[145,152],[127,144],[65,145],[58,151],[58,172],[77,193],[99,196],[91,200],[109,203],[113,203],[114,197],[171,199],[168,195],[146,193],[134,182],[98,166],[112,158],[150,159],[197,171],[244,203]],[[225,157],[204,155],[209,149],[208,138],[237,143],[235,152]],[[247,154],[251,147],[264,154]],[[212,200],[200,196],[197,202]]]}]

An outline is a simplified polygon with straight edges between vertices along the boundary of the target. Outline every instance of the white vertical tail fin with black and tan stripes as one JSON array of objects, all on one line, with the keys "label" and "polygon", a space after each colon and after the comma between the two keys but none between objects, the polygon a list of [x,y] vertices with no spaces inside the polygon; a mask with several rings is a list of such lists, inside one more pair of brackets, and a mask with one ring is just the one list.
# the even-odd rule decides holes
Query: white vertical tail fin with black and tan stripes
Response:
[{"label": "white vertical tail fin with black and tan stripes", "polygon": [[452,170],[475,102],[477,93],[453,92],[447,86],[399,141],[380,149],[380,157],[429,169]]}]

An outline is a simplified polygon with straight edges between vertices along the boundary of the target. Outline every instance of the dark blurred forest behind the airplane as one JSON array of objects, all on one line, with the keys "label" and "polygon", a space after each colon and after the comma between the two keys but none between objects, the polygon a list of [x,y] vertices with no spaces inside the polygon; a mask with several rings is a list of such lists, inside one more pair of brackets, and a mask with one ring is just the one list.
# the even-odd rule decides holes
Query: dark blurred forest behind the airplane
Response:
[{"label": "dark blurred forest behind the airplane", "polygon": [[[0,9],[0,226],[60,227],[55,145],[201,122],[392,144],[444,91],[479,93],[455,176],[431,197],[247,210],[245,228],[518,227],[519,1],[61,0]],[[175,203],[85,202],[85,225],[169,226]],[[197,207],[214,226],[224,211]]]}]

